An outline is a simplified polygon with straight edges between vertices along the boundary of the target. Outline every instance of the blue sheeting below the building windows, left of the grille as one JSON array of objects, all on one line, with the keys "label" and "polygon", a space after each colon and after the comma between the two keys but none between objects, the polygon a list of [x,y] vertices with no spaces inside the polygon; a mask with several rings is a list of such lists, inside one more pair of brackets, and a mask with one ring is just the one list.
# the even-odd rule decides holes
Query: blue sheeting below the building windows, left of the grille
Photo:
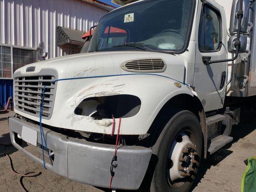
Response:
[{"label": "blue sheeting below the building windows, left of the grille", "polygon": [[0,79],[0,108],[4,108],[8,98],[13,96],[12,79]]}]

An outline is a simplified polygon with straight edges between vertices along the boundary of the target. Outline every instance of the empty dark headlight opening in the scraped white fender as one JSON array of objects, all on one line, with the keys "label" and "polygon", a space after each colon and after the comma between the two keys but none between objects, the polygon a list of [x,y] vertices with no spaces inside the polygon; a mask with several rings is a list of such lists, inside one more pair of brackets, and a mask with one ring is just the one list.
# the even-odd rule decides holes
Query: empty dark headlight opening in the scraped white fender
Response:
[{"label": "empty dark headlight opening in the scraped white fender", "polygon": [[90,97],[83,100],[74,113],[92,117],[95,120],[129,118],[135,116],[141,108],[141,100],[132,95]]}]

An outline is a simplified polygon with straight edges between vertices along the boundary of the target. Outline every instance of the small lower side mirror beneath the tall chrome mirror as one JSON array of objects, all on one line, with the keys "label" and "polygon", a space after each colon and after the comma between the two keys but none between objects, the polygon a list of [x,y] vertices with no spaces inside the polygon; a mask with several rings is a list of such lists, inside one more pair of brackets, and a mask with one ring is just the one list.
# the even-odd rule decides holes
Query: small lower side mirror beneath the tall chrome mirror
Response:
[{"label": "small lower side mirror beneath the tall chrome mirror", "polygon": [[[229,42],[228,42],[228,51],[230,53],[236,53],[236,41],[237,40],[237,36],[233,35],[229,38]],[[246,47],[247,47],[247,36],[241,35],[240,36],[240,48],[239,48],[239,53],[244,53],[246,52]]]}]

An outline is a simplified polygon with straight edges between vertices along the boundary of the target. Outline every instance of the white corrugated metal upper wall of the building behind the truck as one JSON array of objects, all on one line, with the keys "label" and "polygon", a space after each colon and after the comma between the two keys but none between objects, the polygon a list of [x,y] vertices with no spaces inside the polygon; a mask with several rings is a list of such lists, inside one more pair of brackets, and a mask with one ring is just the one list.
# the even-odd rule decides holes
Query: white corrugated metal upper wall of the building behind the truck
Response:
[{"label": "white corrugated metal upper wall of the building behind the truck", "polygon": [[65,55],[57,46],[57,26],[87,31],[108,11],[83,0],[0,0],[0,43],[37,48],[48,57]]}]

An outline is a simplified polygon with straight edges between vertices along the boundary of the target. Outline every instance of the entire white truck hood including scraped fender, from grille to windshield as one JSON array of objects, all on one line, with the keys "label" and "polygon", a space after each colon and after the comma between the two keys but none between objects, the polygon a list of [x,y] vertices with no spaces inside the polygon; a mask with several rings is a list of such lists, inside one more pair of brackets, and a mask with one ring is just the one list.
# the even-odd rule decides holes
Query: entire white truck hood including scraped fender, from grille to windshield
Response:
[{"label": "entire white truck hood including scraped fender, from grille to windshield", "polygon": [[[167,63],[167,68],[165,72],[152,74],[134,74],[122,70],[121,64],[133,58],[162,58]],[[140,98],[141,108],[135,116],[122,119],[121,134],[140,135],[146,134],[160,109],[173,96],[180,94],[194,96],[187,85],[181,84],[181,87],[177,87],[174,84],[175,82],[183,82],[184,62],[183,57],[164,53],[88,53],[34,63],[26,67],[36,66],[35,72],[25,72],[26,67],[21,68],[20,72],[25,75],[35,75],[41,69],[54,69],[58,72],[58,79],[113,75],[57,82],[51,118],[49,120],[42,119],[42,123],[81,132],[111,134],[111,119],[94,120],[92,117],[76,115],[74,113],[75,108],[84,99],[90,97],[133,95]],[[29,119],[39,121],[38,117],[23,111],[15,109],[15,112]],[[118,121],[116,119],[115,133],[117,133]]]}]

